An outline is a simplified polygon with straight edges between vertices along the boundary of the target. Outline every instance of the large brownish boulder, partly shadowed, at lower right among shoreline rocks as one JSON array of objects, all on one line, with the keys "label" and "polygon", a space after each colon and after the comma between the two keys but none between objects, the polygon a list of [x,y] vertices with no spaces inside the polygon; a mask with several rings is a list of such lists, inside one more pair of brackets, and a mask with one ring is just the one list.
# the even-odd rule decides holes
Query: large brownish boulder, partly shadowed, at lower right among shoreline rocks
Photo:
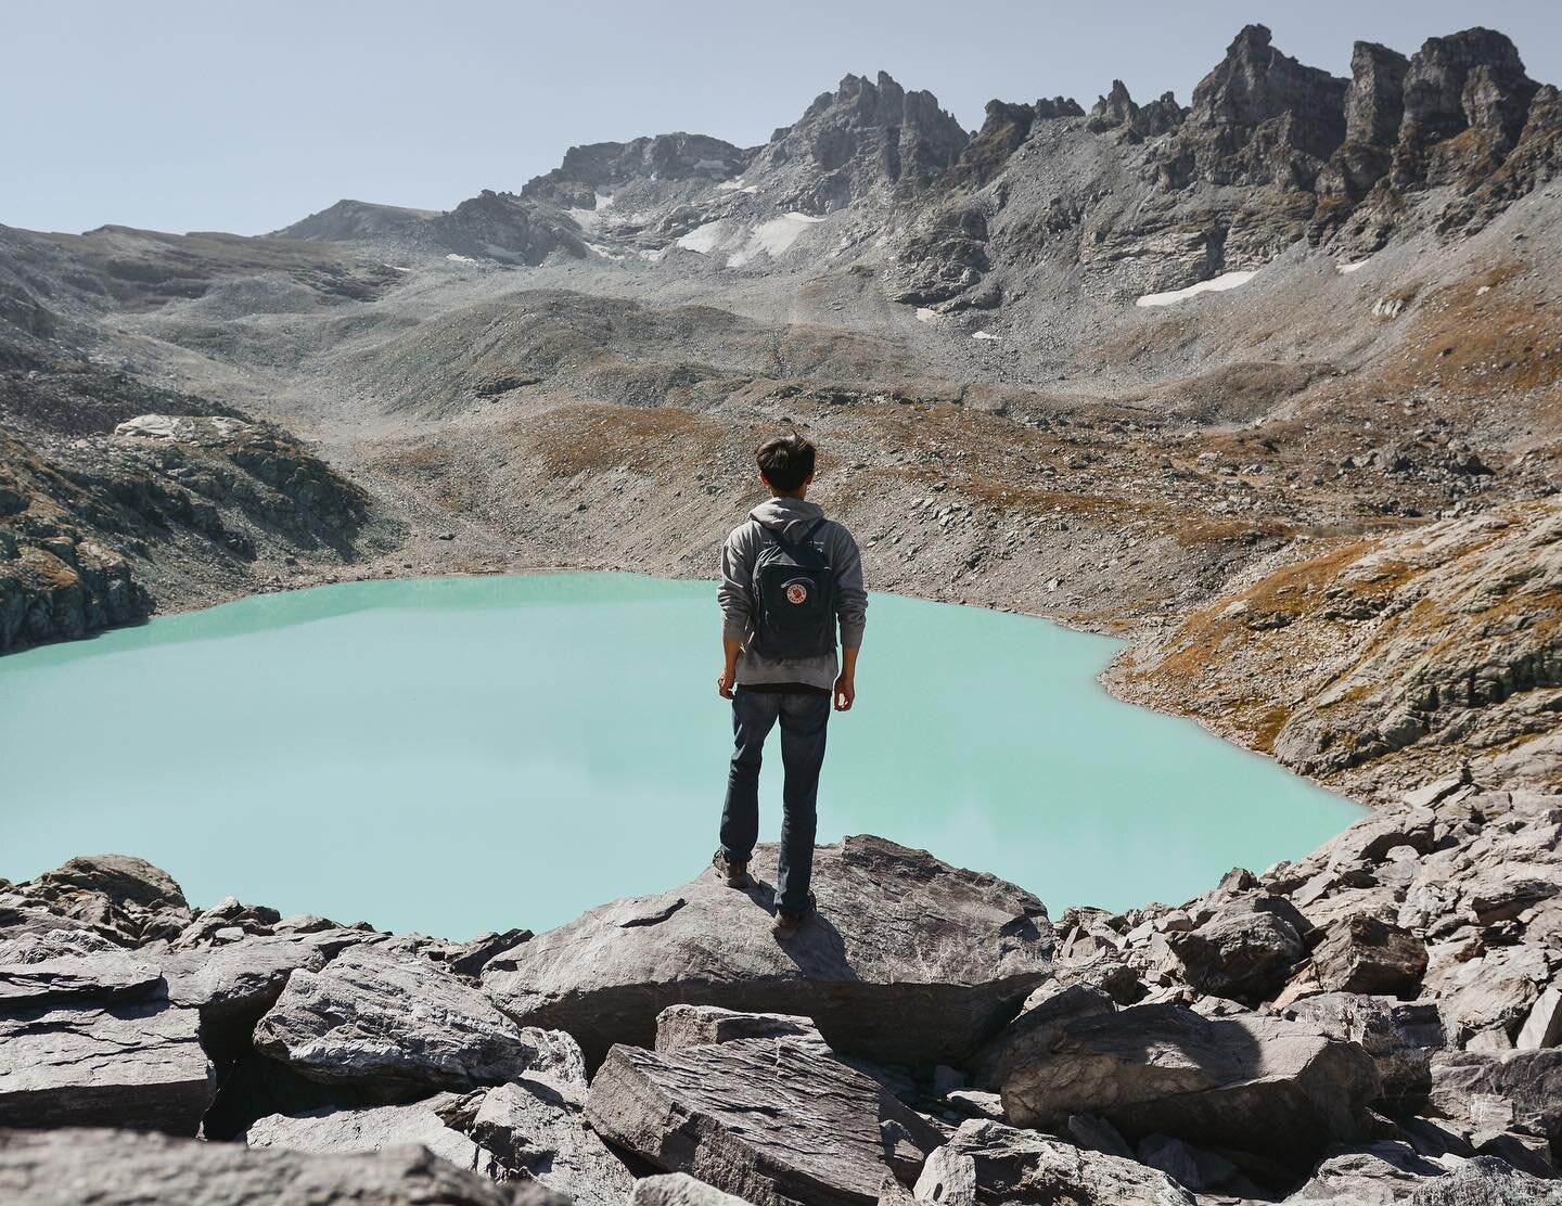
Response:
[{"label": "large brownish boulder, partly shadowed, at lower right among shoreline rocks", "polygon": [[1359,1044],[1298,1022],[1136,1004],[1064,1020],[998,1090],[1020,1126],[1061,1133],[1070,1114],[1097,1114],[1132,1142],[1161,1133],[1304,1172],[1362,1137],[1379,1079]]}]

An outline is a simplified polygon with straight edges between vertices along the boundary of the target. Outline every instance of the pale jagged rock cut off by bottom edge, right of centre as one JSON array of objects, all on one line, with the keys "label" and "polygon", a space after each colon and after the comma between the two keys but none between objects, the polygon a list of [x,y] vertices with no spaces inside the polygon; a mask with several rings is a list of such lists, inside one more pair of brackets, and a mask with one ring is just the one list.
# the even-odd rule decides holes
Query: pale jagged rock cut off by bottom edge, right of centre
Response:
[{"label": "pale jagged rock cut off by bottom edge, right of centre", "polygon": [[928,1158],[917,1201],[947,1206],[1192,1206],[1172,1178],[1120,1156],[1076,1148],[1000,1122],[961,1123]]}]

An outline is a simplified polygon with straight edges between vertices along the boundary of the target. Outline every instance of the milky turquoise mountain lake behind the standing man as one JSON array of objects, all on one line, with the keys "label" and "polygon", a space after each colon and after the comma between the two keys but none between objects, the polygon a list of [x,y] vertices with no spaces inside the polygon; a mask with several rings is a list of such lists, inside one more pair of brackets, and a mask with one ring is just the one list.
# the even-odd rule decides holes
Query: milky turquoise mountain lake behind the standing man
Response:
[{"label": "milky turquoise mountain lake behind the standing man", "polygon": [[[1118,642],[873,595],[818,840],[1067,904],[1181,901],[1361,815],[1111,698]],[[259,595],[0,659],[0,876],[139,855],[225,895],[464,939],[694,876],[731,750],[715,587],[625,573]],[[781,819],[779,734],[762,780]]]}]

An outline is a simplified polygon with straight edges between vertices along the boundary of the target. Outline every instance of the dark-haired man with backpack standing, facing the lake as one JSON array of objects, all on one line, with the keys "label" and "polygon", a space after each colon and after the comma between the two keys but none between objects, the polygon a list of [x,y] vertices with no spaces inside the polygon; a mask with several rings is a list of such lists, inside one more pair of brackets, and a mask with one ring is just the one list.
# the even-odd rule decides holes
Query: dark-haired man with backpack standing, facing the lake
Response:
[{"label": "dark-haired man with backpack standing, facing the lake", "polygon": [[845,712],[856,700],[868,595],[858,542],[808,501],[814,445],[792,433],[767,439],[754,456],[772,498],[726,537],[717,592],[726,661],[715,684],[733,701],[736,750],[715,865],[733,887],[748,886],[759,837],[759,756],[779,720],[786,786],[775,933],[786,939],[814,915],[809,881],[825,728],[831,703]]}]

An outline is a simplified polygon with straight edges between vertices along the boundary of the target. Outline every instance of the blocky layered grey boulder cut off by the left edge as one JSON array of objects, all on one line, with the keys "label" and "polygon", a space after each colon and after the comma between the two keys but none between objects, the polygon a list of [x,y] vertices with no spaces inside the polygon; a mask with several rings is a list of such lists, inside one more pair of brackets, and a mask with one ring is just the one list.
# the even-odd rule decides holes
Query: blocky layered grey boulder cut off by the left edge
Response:
[{"label": "blocky layered grey boulder cut off by the left edge", "polygon": [[212,1101],[194,1009],[161,998],[0,1014],[0,1126],[195,1134]]}]

